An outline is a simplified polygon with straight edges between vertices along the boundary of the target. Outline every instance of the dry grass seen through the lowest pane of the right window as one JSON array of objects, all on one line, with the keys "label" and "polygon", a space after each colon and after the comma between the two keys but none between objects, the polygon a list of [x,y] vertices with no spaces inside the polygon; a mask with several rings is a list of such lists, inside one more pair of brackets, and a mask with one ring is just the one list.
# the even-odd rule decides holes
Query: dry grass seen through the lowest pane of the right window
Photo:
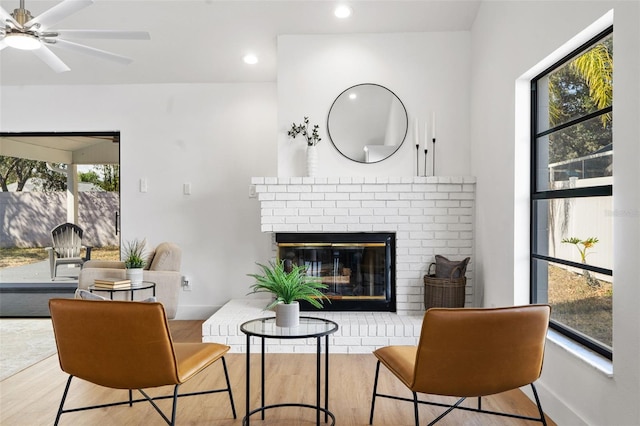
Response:
[{"label": "dry grass seen through the lowest pane of the right window", "polygon": [[613,284],[590,286],[582,273],[549,265],[551,318],[612,346]]}]

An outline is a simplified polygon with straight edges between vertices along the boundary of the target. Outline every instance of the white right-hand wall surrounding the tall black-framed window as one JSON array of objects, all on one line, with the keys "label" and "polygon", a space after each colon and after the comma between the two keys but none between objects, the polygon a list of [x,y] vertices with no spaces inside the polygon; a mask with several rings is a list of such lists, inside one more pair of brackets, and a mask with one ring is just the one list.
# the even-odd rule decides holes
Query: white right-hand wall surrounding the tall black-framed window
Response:
[{"label": "white right-hand wall surrounding the tall black-framed window", "polygon": [[[529,155],[517,80],[614,9],[614,359],[608,377],[554,343],[539,390],[560,425],[640,424],[640,8],[638,2],[482,2],[472,36],[471,158],[478,285],[486,306],[526,303]],[[542,71],[542,70],[540,70]],[[518,114],[516,114],[516,110]]]}]

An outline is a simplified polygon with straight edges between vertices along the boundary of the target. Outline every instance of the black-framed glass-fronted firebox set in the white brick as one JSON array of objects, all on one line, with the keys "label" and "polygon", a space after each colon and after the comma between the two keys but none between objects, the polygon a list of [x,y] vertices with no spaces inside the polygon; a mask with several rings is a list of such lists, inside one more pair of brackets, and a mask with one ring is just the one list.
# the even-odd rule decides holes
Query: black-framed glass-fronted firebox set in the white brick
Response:
[{"label": "black-framed glass-fronted firebox set in the white brick", "polygon": [[[329,311],[396,311],[394,233],[277,233],[278,259],[328,286]],[[304,311],[315,310],[301,303]]]}]

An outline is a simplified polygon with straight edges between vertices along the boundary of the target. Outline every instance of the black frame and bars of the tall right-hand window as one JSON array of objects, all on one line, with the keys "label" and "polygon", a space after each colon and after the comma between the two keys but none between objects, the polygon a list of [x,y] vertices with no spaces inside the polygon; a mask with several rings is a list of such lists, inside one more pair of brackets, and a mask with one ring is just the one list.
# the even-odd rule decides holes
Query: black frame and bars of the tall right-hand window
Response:
[{"label": "black frame and bars of the tall right-hand window", "polygon": [[[543,77],[547,76],[553,70],[559,69],[569,61],[573,60],[575,57],[588,51],[594,45],[596,45],[599,41],[605,39],[606,37],[613,34],[613,26],[608,27],[604,31],[600,32],[596,36],[589,39],[587,42],[582,44],[577,49],[570,52],[568,55],[555,62],[553,65],[539,73],[531,80],[531,125],[530,125],[530,149],[531,149],[531,169],[530,169],[530,277],[529,277],[529,290],[530,290],[530,302],[537,303],[537,289],[538,289],[538,268],[536,267],[536,261],[544,261],[547,264],[557,263],[567,266],[572,266],[575,268],[579,268],[582,270],[588,270],[590,272],[596,272],[603,275],[613,276],[613,270],[601,268],[589,264],[583,264],[578,262],[572,262],[565,259],[560,259],[552,256],[537,254],[537,246],[538,246],[538,230],[537,230],[537,212],[536,212],[536,202],[544,201],[544,200],[556,200],[556,199],[565,199],[565,198],[582,198],[582,197],[613,197],[613,183],[611,185],[600,185],[600,186],[591,186],[591,187],[582,187],[582,188],[569,188],[569,189],[559,189],[559,190],[538,190],[538,140],[539,138],[549,135],[551,133],[555,133],[559,130],[565,129],[567,127],[576,125],[578,123],[582,123],[584,121],[593,119],[595,117],[602,116],[607,113],[613,112],[613,105],[602,108],[600,110],[591,112],[585,116],[572,119],[566,123],[561,123],[555,127],[546,129],[544,131],[538,132],[538,81]],[[614,54],[615,55],[615,54]],[[612,134],[612,143],[613,143],[613,134]],[[596,353],[608,358],[613,359],[613,348],[610,348],[604,344],[600,344],[594,339],[585,336],[584,334],[578,332],[577,330],[573,330],[572,328],[557,322],[553,319],[550,320],[549,327],[556,330],[557,332],[565,335],[566,337],[576,341],[582,346],[585,346]]]}]

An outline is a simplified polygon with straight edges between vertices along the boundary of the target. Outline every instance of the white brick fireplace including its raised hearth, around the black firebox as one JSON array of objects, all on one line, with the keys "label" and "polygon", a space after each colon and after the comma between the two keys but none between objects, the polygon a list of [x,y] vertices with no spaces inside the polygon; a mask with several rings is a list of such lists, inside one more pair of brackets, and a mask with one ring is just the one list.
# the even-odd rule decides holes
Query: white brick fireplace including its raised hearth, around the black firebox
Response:
[{"label": "white brick fireplace including its raised hearth, around the black firebox", "polygon": [[[409,340],[415,343],[424,313],[423,276],[436,254],[452,259],[471,257],[466,288],[466,303],[471,303],[475,182],[468,176],[251,179],[260,202],[262,232],[396,234],[397,313],[317,315],[338,322],[340,330],[332,336],[332,346],[346,353]],[[232,344],[235,350],[243,351],[240,323],[236,322],[260,316],[259,309],[253,302],[232,302],[233,309],[223,307],[204,323],[203,341]],[[242,306],[247,312],[240,312]],[[357,330],[350,326],[354,318],[358,318]],[[305,352],[309,348],[303,345],[289,349]],[[273,346],[274,351],[289,349],[277,346],[277,342]]]}]

